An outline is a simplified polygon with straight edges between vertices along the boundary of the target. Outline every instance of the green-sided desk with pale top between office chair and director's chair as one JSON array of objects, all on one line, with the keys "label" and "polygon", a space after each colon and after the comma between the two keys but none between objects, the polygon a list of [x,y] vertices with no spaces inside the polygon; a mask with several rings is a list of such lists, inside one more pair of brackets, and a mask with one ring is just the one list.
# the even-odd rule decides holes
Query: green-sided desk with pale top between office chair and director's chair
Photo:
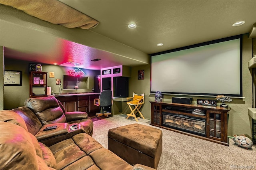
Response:
[{"label": "green-sided desk with pale top between office chair and director's chair", "polygon": [[126,97],[112,97],[113,99],[113,115],[118,115],[126,111],[127,107],[127,99]]}]

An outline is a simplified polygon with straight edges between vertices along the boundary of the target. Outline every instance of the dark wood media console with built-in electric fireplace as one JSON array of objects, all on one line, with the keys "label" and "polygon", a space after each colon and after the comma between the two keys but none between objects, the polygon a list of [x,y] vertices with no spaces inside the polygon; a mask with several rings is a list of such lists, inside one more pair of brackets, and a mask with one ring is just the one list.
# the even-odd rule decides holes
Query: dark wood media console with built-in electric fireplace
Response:
[{"label": "dark wood media console with built-in electric fireplace", "polygon": [[150,103],[150,125],[229,146],[228,108],[171,102]]}]

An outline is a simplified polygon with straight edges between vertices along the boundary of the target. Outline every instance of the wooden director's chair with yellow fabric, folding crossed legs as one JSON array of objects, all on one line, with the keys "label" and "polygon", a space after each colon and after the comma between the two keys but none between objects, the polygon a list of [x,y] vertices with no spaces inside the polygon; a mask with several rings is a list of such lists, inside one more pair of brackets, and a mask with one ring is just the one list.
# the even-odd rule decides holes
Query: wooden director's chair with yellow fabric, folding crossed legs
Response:
[{"label": "wooden director's chair with yellow fabric, folding crossed legs", "polygon": [[[145,119],[142,113],[140,112],[140,108],[144,104],[144,93],[141,95],[135,94],[133,92],[133,97],[127,97],[127,105],[129,106],[131,113],[126,114],[126,119],[129,117],[134,117],[134,119],[138,122],[138,118]],[[132,99],[132,100],[131,100]],[[140,117],[136,117],[136,114],[139,113]]]}]

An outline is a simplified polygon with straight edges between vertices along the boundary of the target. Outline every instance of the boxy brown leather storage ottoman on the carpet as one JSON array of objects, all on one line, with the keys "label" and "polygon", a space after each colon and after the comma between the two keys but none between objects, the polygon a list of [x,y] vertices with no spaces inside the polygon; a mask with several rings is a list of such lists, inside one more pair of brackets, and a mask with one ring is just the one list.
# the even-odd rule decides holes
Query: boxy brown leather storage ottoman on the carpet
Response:
[{"label": "boxy brown leather storage ottoman on the carpet", "polygon": [[162,130],[138,123],[108,130],[108,149],[131,165],[157,169],[162,154]]}]

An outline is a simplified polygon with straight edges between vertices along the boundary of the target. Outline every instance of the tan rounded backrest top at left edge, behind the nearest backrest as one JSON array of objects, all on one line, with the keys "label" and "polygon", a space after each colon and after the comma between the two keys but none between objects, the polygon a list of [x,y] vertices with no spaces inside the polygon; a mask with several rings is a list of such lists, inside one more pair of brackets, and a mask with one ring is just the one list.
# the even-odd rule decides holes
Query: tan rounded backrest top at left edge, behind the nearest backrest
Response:
[{"label": "tan rounded backrest top at left edge, behind the nearest backrest", "polygon": [[14,111],[9,111],[9,110],[3,110],[0,111],[0,121],[2,122],[10,122],[15,125],[19,125],[20,127],[23,127],[26,131],[28,131],[28,128],[26,126],[26,123],[24,119]]}]

